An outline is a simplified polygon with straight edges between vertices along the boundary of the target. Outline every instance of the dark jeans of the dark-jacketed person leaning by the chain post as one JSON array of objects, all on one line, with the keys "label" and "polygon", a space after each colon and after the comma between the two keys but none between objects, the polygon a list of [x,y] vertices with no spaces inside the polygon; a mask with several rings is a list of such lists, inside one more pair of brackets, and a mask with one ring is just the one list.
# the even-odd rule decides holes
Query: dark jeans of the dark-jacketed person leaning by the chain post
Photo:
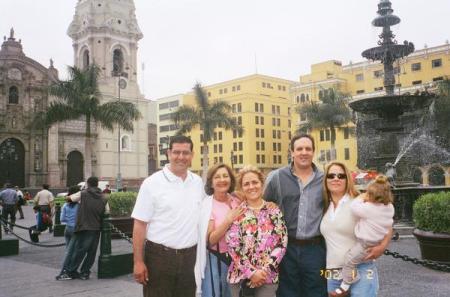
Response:
[{"label": "dark jeans of the dark-jacketed person leaning by the chain post", "polygon": [[97,254],[99,238],[100,231],[85,230],[75,232],[67,248],[67,256],[64,261],[63,270],[69,275],[74,275],[77,272],[78,266],[83,262],[80,273],[89,275],[92,265],[94,265],[95,254]]}]

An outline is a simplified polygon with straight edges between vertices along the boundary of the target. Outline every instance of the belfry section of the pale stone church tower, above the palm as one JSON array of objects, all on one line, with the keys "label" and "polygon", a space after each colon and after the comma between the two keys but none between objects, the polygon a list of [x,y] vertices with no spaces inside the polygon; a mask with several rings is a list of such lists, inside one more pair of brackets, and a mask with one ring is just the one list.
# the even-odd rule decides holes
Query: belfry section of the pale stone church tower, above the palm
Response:
[{"label": "belfry section of the pale stone church tower, above the palm", "polygon": [[121,76],[128,85],[137,84],[136,57],[143,35],[133,0],[79,0],[67,34],[73,40],[75,66],[95,63],[105,82]]}]

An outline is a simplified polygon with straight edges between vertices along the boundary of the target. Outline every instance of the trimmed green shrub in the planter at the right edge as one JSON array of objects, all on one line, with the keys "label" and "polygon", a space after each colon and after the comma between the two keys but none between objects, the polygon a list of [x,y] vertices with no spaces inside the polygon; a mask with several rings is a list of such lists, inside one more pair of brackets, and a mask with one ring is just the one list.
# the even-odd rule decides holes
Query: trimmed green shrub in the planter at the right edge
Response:
[{"label": "trimmed green shrub in the planter at the right edge", "polygon": [[414,203],[416,228],[436,233],[450,233],[450,192],[430,193]]}]

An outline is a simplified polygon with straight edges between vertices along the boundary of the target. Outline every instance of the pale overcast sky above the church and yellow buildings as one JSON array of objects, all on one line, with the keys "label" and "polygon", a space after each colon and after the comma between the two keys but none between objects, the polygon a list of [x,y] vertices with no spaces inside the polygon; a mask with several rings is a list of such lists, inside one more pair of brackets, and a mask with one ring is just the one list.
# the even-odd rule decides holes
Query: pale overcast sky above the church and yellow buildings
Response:
[{"label": "pale overcast sky above the church and yellow buildings", "polygon": [[[0,0],[0,34],[14,27],[27,56],[61,77],[73,64],[66,35],[76,0]],[[135,0],[141,91],[157,99],[257,72],[298,81],[313,63],[362,61],[375,46],[379,0]],[[397,40],[417,49],[450,35],[450,0],[391,0]],[[256,57],[256,58],[255,58]],[[256,66],[255,66],[256,65]],[[139,67],[140,68],[140,67]]]}]

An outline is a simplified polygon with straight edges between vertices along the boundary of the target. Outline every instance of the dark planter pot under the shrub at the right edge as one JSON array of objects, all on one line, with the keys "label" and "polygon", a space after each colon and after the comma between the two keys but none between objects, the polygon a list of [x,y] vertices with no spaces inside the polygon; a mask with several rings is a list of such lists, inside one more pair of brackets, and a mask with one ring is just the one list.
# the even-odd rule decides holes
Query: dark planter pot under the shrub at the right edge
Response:
[{"label": "dark planter pot under the shrub at the right edge", "polygon": [[450,264],[450,234],[414,229],[422,259]]}]

